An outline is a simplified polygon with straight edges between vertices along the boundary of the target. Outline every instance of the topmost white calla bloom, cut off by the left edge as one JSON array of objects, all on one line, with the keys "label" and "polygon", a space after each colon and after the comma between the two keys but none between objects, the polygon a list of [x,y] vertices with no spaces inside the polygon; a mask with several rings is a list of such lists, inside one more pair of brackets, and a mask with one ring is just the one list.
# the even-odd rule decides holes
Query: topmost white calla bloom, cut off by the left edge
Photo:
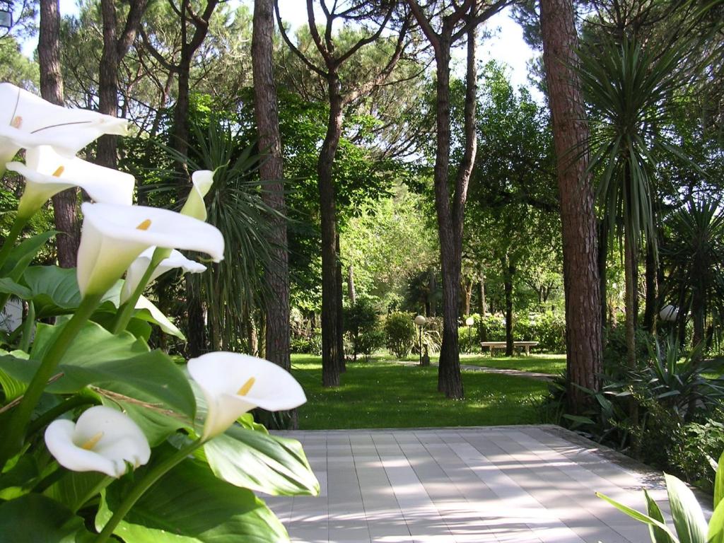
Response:
[{"label": "topmost white calla bloom, cut off by the left edge", "polygon": [[56,106],[10,83],[0,83],[0,104],[0,172],[20,148],[49,145],[74,155],[101,135],[128,132],[126,119]]}]

